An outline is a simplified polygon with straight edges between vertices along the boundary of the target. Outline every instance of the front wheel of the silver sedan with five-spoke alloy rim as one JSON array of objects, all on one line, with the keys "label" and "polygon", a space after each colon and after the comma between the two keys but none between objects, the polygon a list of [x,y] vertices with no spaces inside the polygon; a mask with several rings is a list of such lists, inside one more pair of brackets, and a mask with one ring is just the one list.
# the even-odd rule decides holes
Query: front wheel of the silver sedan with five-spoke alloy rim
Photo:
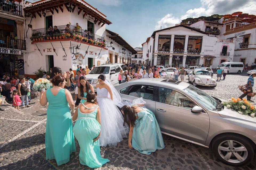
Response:
[{"label": "front wheel of the silver sedan with five-spoke alloy rim", "polygon": [[[230,145],[230,141],[232,141],[232,145]],[[230,148],[230,146],[233,146],[233,148],[244,147],[243,150],[245,151],[235,151],[236,149]],[[248,164],[254,158],[253,143],[246,137],[238,134],[225,134],[214,138],[212,141],[212,150],[221,162],[232,166]],[[228,159],[227,156],[230,156],[229,160],[225,160]],[[237,156],[243,161],[241,162]]]}]

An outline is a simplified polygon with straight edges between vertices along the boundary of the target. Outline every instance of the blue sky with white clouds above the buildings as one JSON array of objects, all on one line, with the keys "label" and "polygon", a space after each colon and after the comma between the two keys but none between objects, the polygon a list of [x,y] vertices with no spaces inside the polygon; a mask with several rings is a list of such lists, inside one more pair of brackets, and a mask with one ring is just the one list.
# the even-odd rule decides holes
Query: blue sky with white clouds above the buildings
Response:
[{"label": "blue sky with white clouds above the buildings", "polygon": [[256,15],[256,0],[86,0],[113,24],[131,46],[141,47],[153,31],[179,24],[181,20],[242,11]]}]

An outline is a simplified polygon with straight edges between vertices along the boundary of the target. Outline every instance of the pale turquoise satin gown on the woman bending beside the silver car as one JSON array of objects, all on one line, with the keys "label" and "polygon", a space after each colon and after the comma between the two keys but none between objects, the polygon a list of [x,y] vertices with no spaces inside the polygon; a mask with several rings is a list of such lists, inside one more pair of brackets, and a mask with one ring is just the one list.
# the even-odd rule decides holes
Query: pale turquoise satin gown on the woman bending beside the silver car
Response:
[{"label": "pale turquoise satin gown on the woman bending beside the silver car", "polygon": [[163,149],[165,144],[155,114],[147,108],[142,109],[143,111],[137,113],[138,118],[133,128],[132,146],[142,154],[149,155],[157,149]]}]

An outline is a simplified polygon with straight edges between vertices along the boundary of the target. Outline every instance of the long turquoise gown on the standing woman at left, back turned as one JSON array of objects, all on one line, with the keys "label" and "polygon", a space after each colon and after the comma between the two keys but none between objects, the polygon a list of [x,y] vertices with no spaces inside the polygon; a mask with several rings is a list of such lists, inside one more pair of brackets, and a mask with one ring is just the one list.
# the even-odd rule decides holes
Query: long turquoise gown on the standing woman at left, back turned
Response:
[{"label": "long turquoise gown on the standing woman at left, back turned", "polygon": [[75,152],[75,138],[69,105],[65,89],[54,96],[51,89],[46,90],[49,102],[45,132],[46,159],[55,159],[58,165],[69,162],[69,156]]}]

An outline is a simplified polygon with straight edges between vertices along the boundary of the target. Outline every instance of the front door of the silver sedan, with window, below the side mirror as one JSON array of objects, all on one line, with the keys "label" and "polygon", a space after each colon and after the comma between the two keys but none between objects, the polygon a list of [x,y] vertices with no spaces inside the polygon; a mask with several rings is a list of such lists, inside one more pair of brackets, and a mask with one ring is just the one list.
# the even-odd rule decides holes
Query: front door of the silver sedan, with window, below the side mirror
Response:
[{"label": "front door of the silver sedan, with window, below the side mirror", "polygon": [[197,104],[171,88],[158,87],[156,98],[156,118],[163,132],[205,144],[210,125],[207,113],[192,113]]}]

